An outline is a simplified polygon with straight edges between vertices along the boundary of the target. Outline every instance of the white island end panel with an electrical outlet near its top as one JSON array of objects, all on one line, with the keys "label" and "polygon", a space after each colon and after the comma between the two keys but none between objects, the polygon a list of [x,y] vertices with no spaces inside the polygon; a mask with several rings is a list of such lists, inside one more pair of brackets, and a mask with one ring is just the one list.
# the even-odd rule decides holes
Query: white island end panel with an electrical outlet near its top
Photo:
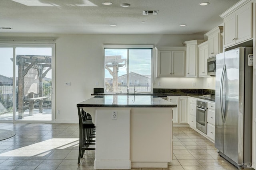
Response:
[{"label": "white island end panel with an electrical outlet near its top", "polygon": [[[112,119],[112,112],[117,119]],[[96,109],[95,169],[130,169],[130,108]]]}]

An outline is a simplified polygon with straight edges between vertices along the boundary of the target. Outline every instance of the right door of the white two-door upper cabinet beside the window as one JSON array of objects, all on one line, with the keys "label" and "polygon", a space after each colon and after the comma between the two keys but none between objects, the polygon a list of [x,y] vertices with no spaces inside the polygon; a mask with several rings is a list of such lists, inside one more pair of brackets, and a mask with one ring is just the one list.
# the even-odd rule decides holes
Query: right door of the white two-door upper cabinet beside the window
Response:
[{"label": "right door of the white two-door upper cabinet beside the window", "polygon": [[172,76],[185,76],[185,51],[172,51]]}]

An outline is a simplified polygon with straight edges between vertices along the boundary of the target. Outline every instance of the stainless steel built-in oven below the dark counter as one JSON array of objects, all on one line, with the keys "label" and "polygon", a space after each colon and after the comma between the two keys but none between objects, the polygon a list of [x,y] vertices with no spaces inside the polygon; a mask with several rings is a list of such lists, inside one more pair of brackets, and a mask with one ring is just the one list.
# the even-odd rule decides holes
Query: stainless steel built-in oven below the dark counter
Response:
[{"label": "stainless steel built-in oven below the dark counter", "polygon": [[196,129],[207,134],[207,106],[206,102],[196,100]]}]

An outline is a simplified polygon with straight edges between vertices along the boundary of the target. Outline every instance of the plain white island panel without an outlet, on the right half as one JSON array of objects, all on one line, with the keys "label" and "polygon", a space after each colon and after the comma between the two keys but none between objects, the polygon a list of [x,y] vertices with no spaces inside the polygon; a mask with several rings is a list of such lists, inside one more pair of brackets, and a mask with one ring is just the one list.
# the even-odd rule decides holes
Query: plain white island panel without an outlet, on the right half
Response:
[{"label": "plain white island panel without an outlet, on the right half", "polygon": [[171,160],[172,108],[132,108],[132,168],[167,168]]}]

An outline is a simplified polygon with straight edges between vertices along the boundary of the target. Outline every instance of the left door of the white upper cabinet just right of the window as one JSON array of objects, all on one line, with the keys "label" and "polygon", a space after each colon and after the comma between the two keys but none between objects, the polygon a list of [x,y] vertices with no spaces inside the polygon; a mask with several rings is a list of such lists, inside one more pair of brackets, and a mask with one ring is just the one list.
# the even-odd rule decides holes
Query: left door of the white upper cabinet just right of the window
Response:
[{"label": "left door of the white upper cabinet just right of the window", "polygon": [[158,52],[158,76],[172,76],[172,51],[159,51]]}]

